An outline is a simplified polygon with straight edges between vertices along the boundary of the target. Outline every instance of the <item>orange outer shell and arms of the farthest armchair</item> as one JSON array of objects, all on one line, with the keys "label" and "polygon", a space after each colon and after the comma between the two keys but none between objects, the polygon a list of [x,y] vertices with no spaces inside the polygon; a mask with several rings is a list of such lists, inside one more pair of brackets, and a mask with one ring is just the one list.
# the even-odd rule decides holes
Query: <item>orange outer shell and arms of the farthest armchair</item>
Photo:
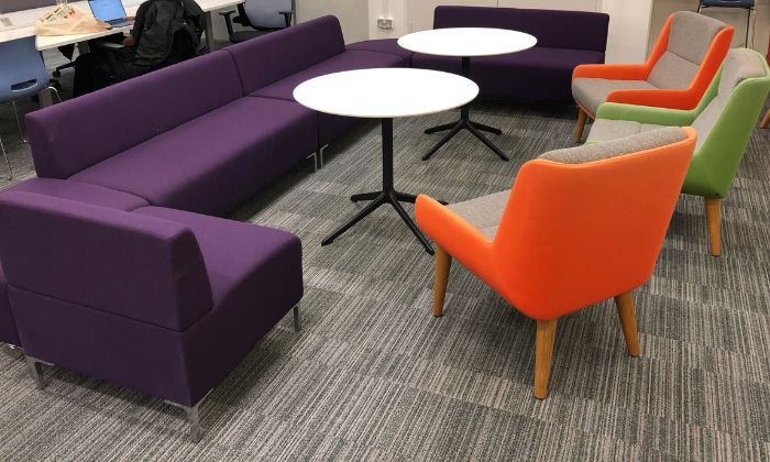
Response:
[{"label": "orange outer shell and arms of the farthest armchair", "polygon": [[[572,79],[576,78],[605,78],[614,80],[646,80],[656,63],[666,53],[669,35],[671,33],[672,16],[669,16],[661,31],[647,62],[642,64],[607,64],[582,65],[575,67]],[[729,51],[733,41],[734,28],[726,28],[714,37],[708,52],[701,63],[701,67],[691,85],[681,90],[642,89],[642,90],[615,90],[612,91],[607,102],[624,102],[637,106],[652,106],[669,109],[693,109],[701,101],[708,85],[716,75],[723,59]],[[595,114],[583,108],[593,119]]]}]

